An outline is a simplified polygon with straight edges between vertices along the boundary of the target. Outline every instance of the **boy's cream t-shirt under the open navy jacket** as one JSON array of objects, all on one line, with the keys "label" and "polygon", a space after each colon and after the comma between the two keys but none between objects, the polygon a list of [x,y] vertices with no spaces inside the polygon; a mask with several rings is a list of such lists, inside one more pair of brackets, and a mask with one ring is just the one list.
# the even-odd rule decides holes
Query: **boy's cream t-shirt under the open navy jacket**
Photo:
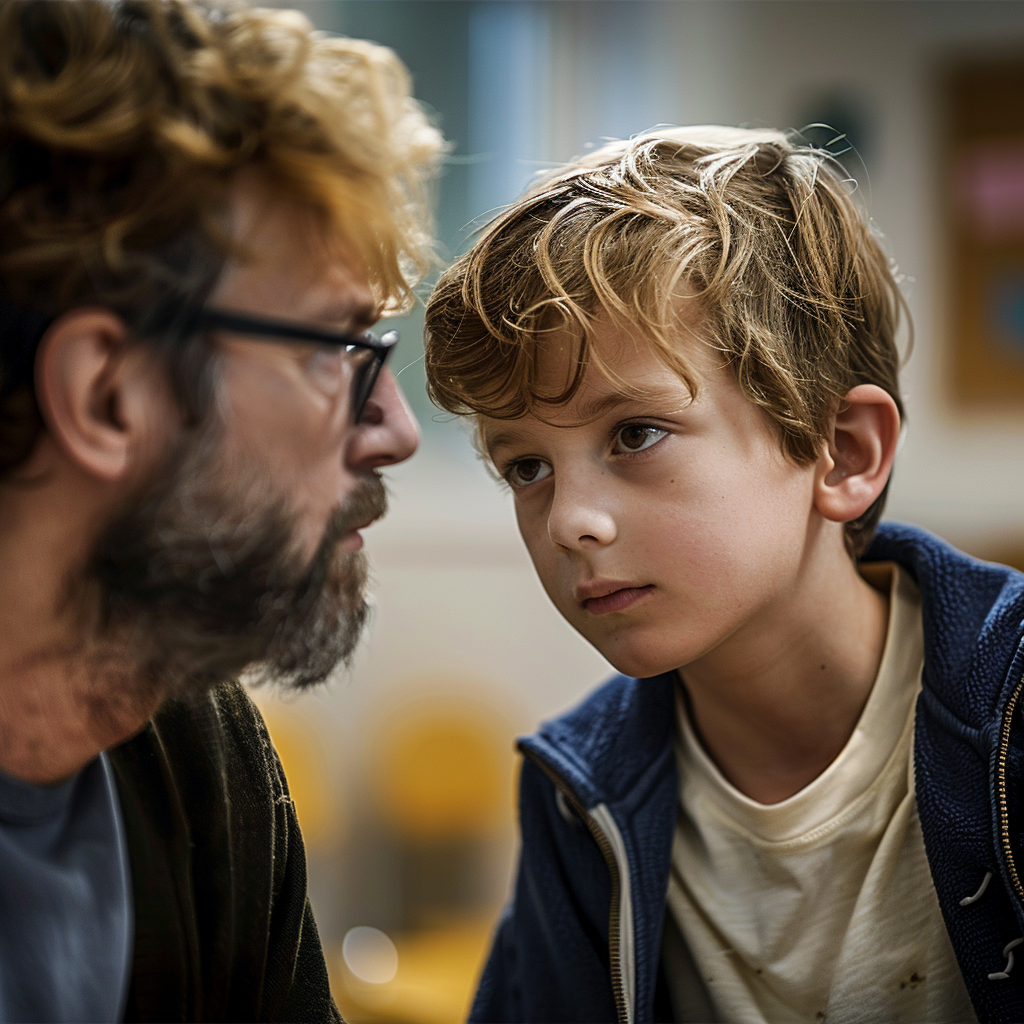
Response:
[{"label": "boy's cream t-shirt under the open navy jacket", "polygon": [[921,596],[898,566],[870,569],[891,581],[879,675],[846,746],[799,793],[771,805],[739,793],[680,697],[669,907],[720,1021],[976,1020],[914,800]]}]

